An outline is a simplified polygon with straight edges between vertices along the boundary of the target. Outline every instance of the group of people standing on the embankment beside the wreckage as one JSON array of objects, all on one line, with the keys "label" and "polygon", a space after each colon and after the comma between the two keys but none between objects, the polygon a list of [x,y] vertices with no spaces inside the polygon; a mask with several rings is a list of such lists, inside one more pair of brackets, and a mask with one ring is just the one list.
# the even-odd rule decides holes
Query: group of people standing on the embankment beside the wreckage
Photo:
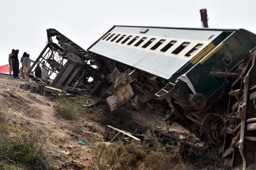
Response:
[{"label": "group of people standing on the embankment beside the wreckage", "polygon": [[[8,62],[9,62],[9,73],[11,74],[11,71],[13,71],[13,77],[15,79],[19,79],[19,59],[18,59],[18,53],[19,50],[11,50],[11,53],[9,54]],[[22,71],[21,75],[23,79],[29,80],[28,72],[31,69],[31,63],[35,63],[34,60],[29,58],[29,54],[26,52],[23,53],[23,56],[21,57],[21,65],[22,65]],[[35,75],[38,78],[47,78],[48,77],[48,71],[47,67],[45,66],[45,61],[42,62],[42,70],[39,64],[37,64],[37,67],[35,68]]]}]

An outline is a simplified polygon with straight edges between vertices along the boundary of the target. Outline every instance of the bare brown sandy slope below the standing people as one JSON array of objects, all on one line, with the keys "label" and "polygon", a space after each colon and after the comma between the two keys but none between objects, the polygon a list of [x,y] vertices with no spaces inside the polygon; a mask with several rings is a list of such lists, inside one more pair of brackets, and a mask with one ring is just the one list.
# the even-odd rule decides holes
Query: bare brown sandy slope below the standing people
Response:
[{"label": "bare brown sandy slope below the standing people", "polygon": [[[72,146],[76,154],[65,157],[69,161],[74,160],[85,165],[84,169],[90,168],[92,157],[90,146],[93,143],[93,138],[96,140],[103,138],[105,127],[89,120],[74,122],[61,119],[53,107],[55,98],[23,90],[19,88],[21,83],[34,84],[32,81],[14,79],[10,75],[0,74],[0,113],[10,123],[16,123],[21,131],[25,128],[24,124],[31,130],[55,128],[47,141],[50,147],[57,151],[53,154],[61,155],[61,151],[71,150],[66,148],[67,146]],[[89,131],[91,127],[96,128],[98,132]],[[47,135],[45,133],[45,136]],[[89,146],[78,144],[79,140],[83,140]],[[60,148],[60,145],[63,148]]]}]

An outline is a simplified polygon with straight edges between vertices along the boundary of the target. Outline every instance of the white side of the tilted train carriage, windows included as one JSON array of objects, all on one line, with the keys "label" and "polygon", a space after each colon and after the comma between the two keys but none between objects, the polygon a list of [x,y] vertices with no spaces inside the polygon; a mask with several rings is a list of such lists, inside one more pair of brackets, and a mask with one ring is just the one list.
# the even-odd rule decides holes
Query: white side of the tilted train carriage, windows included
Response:
[{"label": "white side of the tilted train carriage, windows included", "polygon": [[87,50],[164,79],[195,64],[236,29],[113,26]]}]

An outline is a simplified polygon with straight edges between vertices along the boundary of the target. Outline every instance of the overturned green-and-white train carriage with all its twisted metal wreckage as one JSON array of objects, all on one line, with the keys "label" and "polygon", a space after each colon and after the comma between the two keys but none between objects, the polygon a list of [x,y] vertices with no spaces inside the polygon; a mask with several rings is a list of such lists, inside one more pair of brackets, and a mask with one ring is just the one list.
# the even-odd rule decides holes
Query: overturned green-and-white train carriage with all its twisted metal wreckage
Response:
[{"label": "overturned green-and-white train carriage with all its twisted metal wreckage", "polygon": [[108,96],[111,111],[132,101],[190,130],[232,167],[255,162],[255,34],[113,26],[87,50],[55,29],[47,40],[36,62],[57,75],[51,87]]}]

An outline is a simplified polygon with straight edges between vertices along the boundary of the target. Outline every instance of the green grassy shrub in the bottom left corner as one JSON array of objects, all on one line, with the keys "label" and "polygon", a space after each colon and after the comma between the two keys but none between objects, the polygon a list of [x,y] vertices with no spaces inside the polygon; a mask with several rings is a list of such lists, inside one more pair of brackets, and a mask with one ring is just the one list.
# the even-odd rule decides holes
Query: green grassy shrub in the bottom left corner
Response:
[{"label": "green grassy shrub in the bottom left corner", "polygon": [[[52,133],[49,130],[45,132]],[[26,136],[0,135],[0,168],[2,166],[13,170],[54,169],[58,161],[48,154],[49,147],[45,144],[46,139],[39,131],[31,131]]]}]

